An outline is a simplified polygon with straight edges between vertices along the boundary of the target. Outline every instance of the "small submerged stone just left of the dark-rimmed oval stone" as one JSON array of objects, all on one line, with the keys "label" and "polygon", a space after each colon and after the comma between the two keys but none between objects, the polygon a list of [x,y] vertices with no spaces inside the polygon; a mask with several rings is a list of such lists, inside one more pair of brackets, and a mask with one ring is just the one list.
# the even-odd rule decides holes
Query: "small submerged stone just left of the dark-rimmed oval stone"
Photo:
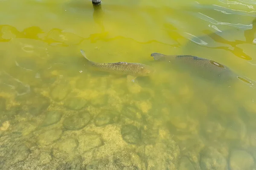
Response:
[{"label": "small submerged stone just left of the dark-rimmed oval stone", "polygon": [[47,111],[42,126],[49,126],[60,121],[62,116],[61,111]]}]

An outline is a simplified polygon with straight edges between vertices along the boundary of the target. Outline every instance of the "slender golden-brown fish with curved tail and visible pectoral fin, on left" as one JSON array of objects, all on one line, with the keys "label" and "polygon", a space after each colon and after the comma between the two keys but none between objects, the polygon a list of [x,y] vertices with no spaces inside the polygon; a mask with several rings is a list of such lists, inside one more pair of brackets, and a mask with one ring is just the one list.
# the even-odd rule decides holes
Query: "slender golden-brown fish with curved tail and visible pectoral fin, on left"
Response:
[{"label": "slender golden-brown fish with curved tail and visible pectoral fin, on left", "polygon": [[86,61],[89,63],[94,70],[104,71],[112,74],[127,75],[127,80],[134,82],[137,77],[150,76],[154,72],[154,69],[142,63],[132,62],[109,62],[109,63],[98,63],[90,61],[85,52],[80,49],[81,54],[84,56]]}]

